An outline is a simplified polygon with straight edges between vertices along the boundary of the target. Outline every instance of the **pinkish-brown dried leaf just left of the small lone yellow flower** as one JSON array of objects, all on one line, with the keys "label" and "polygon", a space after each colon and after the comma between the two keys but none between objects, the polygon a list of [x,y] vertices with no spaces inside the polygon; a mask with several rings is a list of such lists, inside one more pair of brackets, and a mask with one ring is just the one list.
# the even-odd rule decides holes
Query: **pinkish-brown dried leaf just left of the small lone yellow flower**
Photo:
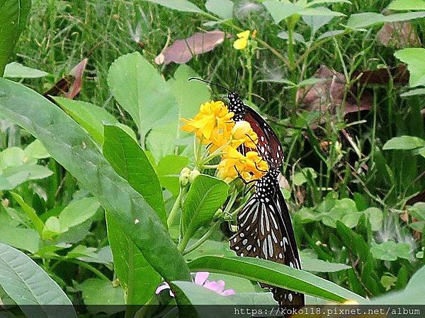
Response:
[{"label": "pinkish-brown dried leaf just left of the small lone yellow flower", "polygon": [[[209,52],[217,45],[225,41],[225,33],[220,30],[208,31],[205,33],[195,33],[191,37],[183,40],[176,40],[171,46],[162,50],[155,58],[157,64],[184,64],[195,55]],[[230,35],[227,35],[230,37]]]}]

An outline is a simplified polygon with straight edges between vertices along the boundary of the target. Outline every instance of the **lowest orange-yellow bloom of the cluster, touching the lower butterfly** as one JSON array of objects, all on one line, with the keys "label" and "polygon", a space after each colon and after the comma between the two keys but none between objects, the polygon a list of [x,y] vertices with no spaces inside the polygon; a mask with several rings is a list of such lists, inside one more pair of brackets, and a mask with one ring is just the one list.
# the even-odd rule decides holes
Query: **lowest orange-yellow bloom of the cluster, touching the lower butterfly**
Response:
[{"label": "lowest orange-yellow bloom of the cluster, touching the lower butterfly", "polygon": [[259,179],[266,174],[267,163],[256,151],[248,151],[242,155],[236,148],[227,146],[217,168],[217,177],[230,182],[238,177],[237,172],[246,180]]}]

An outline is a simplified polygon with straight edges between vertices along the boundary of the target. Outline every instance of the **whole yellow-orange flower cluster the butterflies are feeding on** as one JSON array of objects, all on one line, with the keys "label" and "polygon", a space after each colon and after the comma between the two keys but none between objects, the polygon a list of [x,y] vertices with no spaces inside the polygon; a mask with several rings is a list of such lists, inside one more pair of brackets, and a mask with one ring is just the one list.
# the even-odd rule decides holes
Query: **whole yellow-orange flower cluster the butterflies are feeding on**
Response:
[{"label": "whole yellow-orange flower cluster the butterflies are feeding on", "polygon": [[249,122],[234,122],[233,113],[219,101],[205,102],[193,119],[182,119],[185,123],[181,129],[193,132],[201,143],[208,145],[208,151],[221,155],[217,167],[217,177],[226,182],[238,176],[249,181],[259,179],[268,170],[267,163],[256,151],[248,151],[245,155],[237,148],[241,145],[255,149],[258,136]]}]

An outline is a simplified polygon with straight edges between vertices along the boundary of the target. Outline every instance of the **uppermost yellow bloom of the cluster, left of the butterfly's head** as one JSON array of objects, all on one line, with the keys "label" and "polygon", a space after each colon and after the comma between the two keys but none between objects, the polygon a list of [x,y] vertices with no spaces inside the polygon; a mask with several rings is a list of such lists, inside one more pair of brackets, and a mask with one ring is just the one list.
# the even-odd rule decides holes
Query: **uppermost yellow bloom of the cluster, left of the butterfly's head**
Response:
[{"label": "uppermost yellow bloom of the cluster, left of the butterfly's head", "polygon": [[194,119],[182,119],[186,124],[181,127],[183,131],[195,132],[204,143],[210,143],[213,133],[228,136],[234,122],[233,113],[227,110],[226,105],[219,101],[205,102],[200,105],[200,111]]}]

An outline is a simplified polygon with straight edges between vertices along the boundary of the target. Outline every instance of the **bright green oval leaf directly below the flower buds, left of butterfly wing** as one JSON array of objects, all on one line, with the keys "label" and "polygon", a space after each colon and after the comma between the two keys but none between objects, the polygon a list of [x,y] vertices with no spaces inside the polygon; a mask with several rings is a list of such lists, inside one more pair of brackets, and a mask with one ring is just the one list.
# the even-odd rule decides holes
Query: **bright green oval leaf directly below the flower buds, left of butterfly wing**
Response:
[{"label": "bright green oval leaf directly below the flower buds, left of butterfly wing", "polygon": [[217,209],[225,203],[229,185],[209,175],[198,175],[183,203],[183,230],[192,237],[198,228],[208,225]]}]

